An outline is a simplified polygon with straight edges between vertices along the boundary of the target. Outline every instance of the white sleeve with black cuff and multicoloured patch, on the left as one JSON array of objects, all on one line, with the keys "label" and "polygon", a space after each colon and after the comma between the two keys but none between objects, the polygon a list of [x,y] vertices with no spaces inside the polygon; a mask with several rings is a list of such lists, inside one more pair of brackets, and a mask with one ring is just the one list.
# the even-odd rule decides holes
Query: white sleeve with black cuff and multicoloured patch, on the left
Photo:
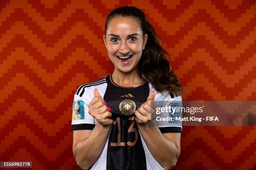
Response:
[{"label": "white sleeve with black cuff and multicoloured patch, on the left", "polygon": [[92,130],[95,120],[88,112],[88,101],[74,95],[72,112],[72,130]]}]

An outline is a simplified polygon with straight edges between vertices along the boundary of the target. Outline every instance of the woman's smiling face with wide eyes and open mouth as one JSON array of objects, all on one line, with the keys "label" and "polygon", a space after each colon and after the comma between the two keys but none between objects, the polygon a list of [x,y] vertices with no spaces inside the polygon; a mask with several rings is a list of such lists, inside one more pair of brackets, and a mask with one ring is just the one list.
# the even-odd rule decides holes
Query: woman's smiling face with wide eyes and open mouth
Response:
[{"label": "woman's smiling face with wide eyes and open mouth", "polygon": [[116,17],[110,20],[103,39],[115,69],[131,72],[136,68],[145,48],[147,36],[145,34],[143,40],[139,23],[133,18]]}]

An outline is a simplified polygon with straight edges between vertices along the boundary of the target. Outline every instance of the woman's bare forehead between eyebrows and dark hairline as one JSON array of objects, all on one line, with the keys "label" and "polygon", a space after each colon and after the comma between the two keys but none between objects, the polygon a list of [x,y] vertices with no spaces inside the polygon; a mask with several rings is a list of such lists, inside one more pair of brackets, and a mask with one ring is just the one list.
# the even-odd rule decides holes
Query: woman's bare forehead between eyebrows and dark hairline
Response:
[{"label": "woman's bare forehead between eyebrows and dark hairline", "polygon": [[115,17],[108,23],[106,31],[109,34],[128,35],[132,33],[142,34],[139,23],[131,17]]}]

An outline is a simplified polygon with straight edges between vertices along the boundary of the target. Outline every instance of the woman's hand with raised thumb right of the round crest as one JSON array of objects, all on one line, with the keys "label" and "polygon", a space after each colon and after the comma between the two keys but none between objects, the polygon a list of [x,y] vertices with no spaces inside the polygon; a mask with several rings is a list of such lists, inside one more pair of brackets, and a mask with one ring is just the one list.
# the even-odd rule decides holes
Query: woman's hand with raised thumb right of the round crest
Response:
[{"label": "woman's hand with raised thumb right of the round crest", "polygon": [[151,122],[156,109],[154,99],[155,91],[152,91],[148,95],[147,101],[144,102],[137,110],[135,110],[134,115],[136,116],[135,120],[138,125],[147,126]]}]

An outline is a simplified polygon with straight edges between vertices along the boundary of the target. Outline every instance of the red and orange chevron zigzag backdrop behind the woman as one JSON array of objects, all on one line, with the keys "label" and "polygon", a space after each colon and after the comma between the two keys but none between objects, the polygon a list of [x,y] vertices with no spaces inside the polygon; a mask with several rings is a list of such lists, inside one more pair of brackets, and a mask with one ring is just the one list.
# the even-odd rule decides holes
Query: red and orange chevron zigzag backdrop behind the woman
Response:
[{"label": "red and orange chevron zigzag backdrop behind the woman", "polygon": [[[0,160],[79,169],[78,85],[110,74],[102,40],[115,7],[141,8],[187,87],[183,100],[255,100],[255,0],[0,0]],[[174,169],[255,170],[255,127],[189,127]]]}]

